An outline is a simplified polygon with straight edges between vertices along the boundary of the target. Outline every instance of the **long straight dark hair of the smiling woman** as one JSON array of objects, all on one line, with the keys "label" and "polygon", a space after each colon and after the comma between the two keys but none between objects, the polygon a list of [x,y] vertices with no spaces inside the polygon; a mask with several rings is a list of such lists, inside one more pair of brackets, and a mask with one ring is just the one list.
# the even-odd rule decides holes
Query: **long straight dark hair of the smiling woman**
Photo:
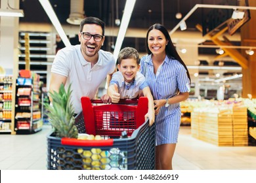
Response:
[{"label": "long straight dark hair of the smiling woman", "polygon": [[177,59],[185,67],[186,74],[188,75],[188,78],[191,82],[190,75],[189,75],[189,72],[188,72],[188,68],[186,67],[184,61],[182,61],[182,59],[179,56],[175,46],[173,45],[173,42],[171,41],[171,37],[170,37],[167,29],[165,27],[163,27],[163,25],[161,25],[161,24],[151,25],[148,29],[148,32],[146,33],[146,50],[147,50],[148,54],[152,54],[152,52],[148,48],[148,33],[150,31],[152,31],[152,29],[157,29],[157,30],[161,31],[161,33],[163,33],[163,35],[165,36],[165,39],[168,41],[168,44],[165,46],[165,53],[167,54],[168,58]]}]

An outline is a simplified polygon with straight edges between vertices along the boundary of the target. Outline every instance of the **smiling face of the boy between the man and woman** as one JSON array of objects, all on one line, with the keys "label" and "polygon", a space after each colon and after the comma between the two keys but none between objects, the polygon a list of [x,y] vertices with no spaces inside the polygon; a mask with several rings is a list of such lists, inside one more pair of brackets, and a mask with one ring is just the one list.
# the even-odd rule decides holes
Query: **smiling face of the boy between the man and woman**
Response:
[{"label": "smiling face of the boy between the man and woman", "polygon": [[118,64],[117,67],[126,82],[132,82],[137,71],[140,69],[140,65],[138,65],[136,59],[133,58],[122,59],[121,64]]}]

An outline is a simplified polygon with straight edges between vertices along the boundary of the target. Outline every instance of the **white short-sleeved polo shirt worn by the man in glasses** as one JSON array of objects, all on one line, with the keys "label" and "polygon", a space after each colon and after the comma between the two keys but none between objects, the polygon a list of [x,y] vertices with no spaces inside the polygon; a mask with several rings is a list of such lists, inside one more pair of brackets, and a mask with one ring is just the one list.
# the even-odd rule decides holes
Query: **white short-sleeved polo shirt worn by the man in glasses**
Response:
[{"label": "white short-sleeved polo shirt worn by the man in glasses", "polygon": [[108,74],[114,72],[116,61],[110,52],[98,51],[98,62],[91,68],[81,54],[81,45],[62,48],[56,54],[51,68],[52,73],[66,76],[65,88],[72,83],[72,103],[75,113],[81,112],[81,97],[95,97],[100,84]]}]

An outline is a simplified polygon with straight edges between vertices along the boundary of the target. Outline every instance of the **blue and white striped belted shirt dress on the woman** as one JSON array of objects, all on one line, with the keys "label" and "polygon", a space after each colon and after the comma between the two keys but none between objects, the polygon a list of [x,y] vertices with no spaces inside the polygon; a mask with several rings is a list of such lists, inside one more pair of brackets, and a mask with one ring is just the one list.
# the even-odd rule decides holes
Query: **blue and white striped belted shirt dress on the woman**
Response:
[{"label": "blue and white striped belted shirt dress on the woman", "polygon": [[[165,56],[163,63],[154,74],[151,54],[140,59],[140,73],[146,77],[154,100],[168,99],[179,92],[190,91],[190,80],[186,69],[177,61]],[[156,115],[156,145],[175,144],[181,124],[181,107],[179,103],[161,107]]]}]

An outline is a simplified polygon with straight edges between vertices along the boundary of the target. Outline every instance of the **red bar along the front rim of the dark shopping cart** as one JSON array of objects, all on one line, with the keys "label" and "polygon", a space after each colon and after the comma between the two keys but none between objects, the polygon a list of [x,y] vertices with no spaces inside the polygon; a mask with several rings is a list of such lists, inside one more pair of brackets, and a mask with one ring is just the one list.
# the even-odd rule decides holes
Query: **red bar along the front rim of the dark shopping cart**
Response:
[{"label": "red bar along the front rim of the dark shopping cart", "polygon": [[106,139],[106,140],[79,140],[74,138],[66,138],[63,137],[61,139],[62,145],[68,146],[113,146],[114,140],[113,139]]}]

